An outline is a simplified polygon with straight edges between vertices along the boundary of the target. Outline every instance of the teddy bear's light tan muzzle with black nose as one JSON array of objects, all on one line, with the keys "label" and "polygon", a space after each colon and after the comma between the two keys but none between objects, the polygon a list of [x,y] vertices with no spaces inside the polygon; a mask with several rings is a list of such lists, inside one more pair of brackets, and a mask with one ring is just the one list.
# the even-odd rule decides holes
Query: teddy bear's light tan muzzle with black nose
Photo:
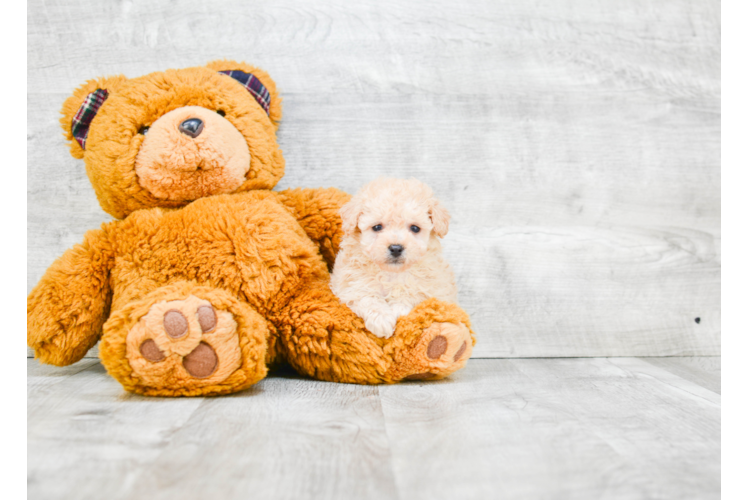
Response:
[{"label": "teddy bear's light tan muzzle with black nose", "polygon": [[236,191],[250,162],[246,139],[227,118],[202,106],[185,106],[149,127],[135,172],[156,198],[193,201]]}]

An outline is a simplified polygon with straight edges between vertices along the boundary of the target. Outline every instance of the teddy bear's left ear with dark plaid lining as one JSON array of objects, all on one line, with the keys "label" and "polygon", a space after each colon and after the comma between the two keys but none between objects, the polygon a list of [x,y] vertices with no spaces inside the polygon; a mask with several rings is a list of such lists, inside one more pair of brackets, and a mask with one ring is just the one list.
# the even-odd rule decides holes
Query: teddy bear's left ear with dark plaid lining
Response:
[{"label": "teddy bear's left ear with dark plaid lining", "polygon": [[70,141],[70,154],[74,158],[83,158],[91,122],[107,98],[125,81],[127,78],[124,76],[89,80],[65,100],[60,125]]}]

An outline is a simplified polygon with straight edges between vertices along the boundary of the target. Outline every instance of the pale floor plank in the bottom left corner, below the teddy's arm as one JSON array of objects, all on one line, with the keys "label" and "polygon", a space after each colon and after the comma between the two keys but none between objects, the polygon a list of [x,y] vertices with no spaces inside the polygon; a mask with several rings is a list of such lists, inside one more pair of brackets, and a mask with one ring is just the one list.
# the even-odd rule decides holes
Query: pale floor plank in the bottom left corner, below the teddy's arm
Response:
[{"label": "pale floor plank in the bottom left corner, below the teddy's arm", "polygon": [[98,362],[81,363],[26,361],[29,498],[117,498],[202,403],[133,396]]}]

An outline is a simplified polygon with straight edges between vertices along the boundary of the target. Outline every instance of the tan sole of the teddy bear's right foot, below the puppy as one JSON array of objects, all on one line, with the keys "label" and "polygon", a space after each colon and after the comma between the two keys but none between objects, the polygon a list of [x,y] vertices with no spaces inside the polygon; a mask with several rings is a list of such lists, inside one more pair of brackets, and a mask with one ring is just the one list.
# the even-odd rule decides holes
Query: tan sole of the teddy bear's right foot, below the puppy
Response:
[{"label": "tan sole of the teddy bear's right foot, below the puppy", "polygon": [[470,330],[462,323],[433,323],[404,356],[402,380],[438,380],[465,366],[473,352]]}]

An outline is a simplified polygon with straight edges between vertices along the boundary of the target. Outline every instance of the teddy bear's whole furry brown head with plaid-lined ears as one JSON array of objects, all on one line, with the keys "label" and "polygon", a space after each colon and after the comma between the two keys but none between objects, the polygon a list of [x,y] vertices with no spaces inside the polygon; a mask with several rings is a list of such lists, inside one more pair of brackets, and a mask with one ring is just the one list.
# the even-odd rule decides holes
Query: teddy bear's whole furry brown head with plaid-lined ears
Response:
[{"label": "teddy bear's whole furry brown head with plaid-lined ears", "polygon": [[235,61],[139,78],[97,78],[63,106],[62,128],[101,207],[116,218],[283,177],[281,104],[259,68]]}]

